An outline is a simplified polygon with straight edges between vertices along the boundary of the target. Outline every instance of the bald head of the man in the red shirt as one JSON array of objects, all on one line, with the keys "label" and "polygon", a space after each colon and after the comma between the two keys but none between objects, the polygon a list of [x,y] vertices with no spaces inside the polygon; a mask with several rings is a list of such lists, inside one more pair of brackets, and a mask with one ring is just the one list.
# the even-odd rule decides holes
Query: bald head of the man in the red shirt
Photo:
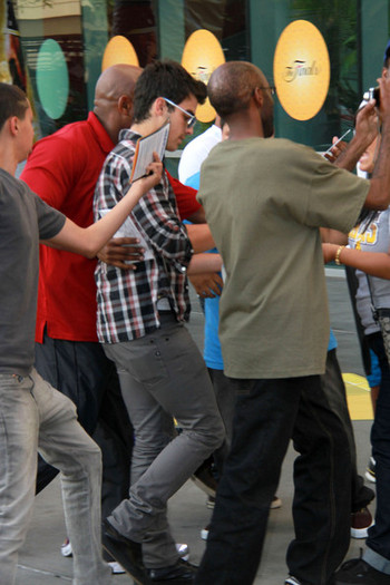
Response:
[{"label": "bald head of the man in the red shirt", "polygon": [[134,65],[113,65],[97,80],[94,114],[114,144],[118,142],[119,131],[131,126],[134,89],[142,71]]}]

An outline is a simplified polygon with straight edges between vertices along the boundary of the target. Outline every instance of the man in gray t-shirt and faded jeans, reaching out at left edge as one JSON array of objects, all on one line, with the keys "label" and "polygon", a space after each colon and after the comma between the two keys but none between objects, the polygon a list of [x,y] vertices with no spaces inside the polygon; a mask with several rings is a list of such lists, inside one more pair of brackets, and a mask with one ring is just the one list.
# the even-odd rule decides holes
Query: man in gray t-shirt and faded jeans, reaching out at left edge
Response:
[{"label": "man in gray t-shirt and faded jeans, reaching out at left edge", "polygon": [[[14,178],[33,139],[25,94],[0,84],[0,583],[13,585],[35,498],[37,451],[61,472],[66,524],[74,547],[74,585],[108,585],[101,558],[100,450],[77,421],[75,404],[33,368],[38,247],[92,257],[139,196],[160,178],[131,186],[101,222],[81,228]],[[149,175],[150,176],[150,175]]]}]

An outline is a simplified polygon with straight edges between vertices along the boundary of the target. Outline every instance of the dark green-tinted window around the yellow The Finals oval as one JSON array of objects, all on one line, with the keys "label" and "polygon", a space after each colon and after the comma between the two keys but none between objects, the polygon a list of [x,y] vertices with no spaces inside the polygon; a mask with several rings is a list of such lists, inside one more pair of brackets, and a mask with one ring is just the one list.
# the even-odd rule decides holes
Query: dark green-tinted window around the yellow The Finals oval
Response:
[{"label": "dark green-tinted window around the yellow The Finals oval", "polygon": [[299,121],[275,104],[276,136],[328,148],[334,135],[353,127],[354,113],[364,90],[376,85],[389,37],[388,0],[252,0],[252,60],[267,78],[273,78],[273,55],[284,28],[295,20],[308,20],[323,36],[331,64],[328,97],[310,120]]}]

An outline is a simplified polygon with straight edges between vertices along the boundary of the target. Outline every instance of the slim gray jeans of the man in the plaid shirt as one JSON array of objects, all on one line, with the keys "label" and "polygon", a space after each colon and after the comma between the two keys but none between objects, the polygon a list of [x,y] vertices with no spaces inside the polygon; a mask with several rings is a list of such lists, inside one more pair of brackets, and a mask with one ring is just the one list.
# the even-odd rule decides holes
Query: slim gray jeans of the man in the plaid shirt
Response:
[{"label": "slim gray jeans of the man in the plaid shirt", "polygon": [[[173,318],[144,338],[104,348],[135,430],[129,498],[108,520],[143,543],[145,566],[169,566],[178,554],[167,500],[224,440],[213,386],[194,340]],[[175,438],[173,417],[182,429]]]}]

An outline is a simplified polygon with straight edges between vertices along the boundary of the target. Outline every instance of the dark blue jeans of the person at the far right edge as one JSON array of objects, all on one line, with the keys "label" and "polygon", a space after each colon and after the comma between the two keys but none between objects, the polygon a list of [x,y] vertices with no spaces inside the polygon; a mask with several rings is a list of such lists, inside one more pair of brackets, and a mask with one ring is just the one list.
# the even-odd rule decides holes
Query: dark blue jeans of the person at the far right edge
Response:
[{"label": "dark blue jeans of the person at the far right edge", "polygon": [[384,557],[380,565],[371,558],[370,564],[390,574],[390,368],[380,333],[368,335],[368,341],[378,355],[382,381],[371,430],[372,456],[377,464],[377,513],[376,524],[369,529],[367,546]]}]

